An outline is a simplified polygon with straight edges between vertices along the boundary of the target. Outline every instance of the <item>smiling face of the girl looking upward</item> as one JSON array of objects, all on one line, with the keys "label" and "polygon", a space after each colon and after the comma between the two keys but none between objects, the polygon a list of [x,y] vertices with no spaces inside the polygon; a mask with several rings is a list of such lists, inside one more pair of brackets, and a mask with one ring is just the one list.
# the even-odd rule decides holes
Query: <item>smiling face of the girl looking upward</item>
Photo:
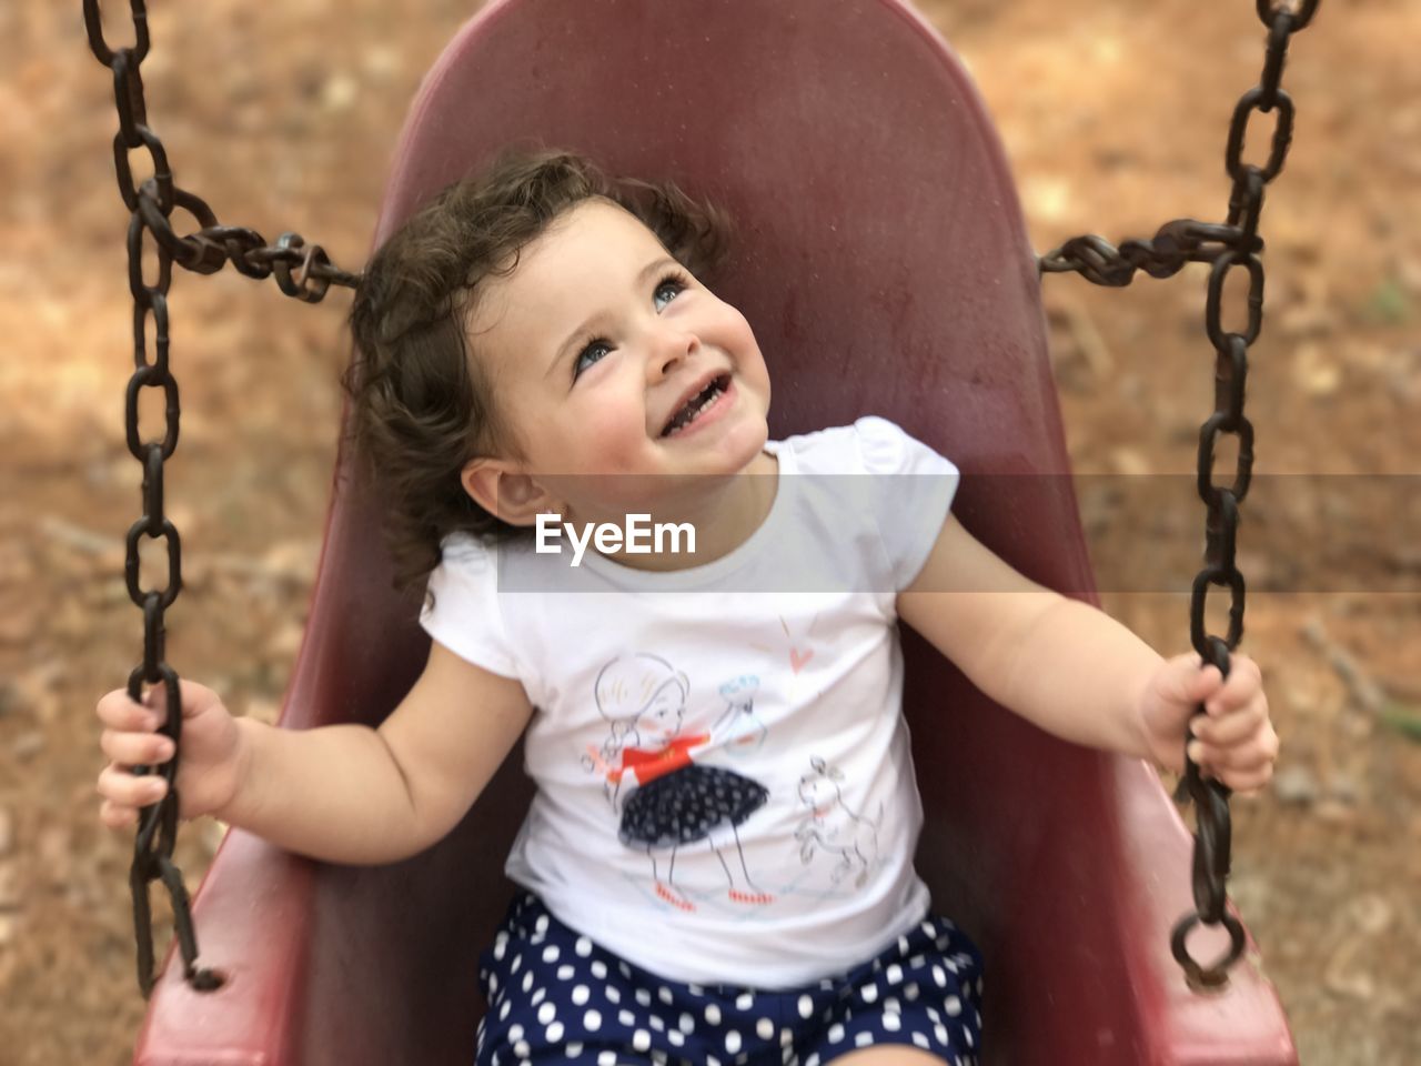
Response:
[{"label": "smiling face of the girl looking upward", "polygon": [[769,436],[770,379],[745,316],[614,203],[554,222],[489,279],[469,324],[519,472],[564,517],[655,513],[688,476],[742,472]]}]

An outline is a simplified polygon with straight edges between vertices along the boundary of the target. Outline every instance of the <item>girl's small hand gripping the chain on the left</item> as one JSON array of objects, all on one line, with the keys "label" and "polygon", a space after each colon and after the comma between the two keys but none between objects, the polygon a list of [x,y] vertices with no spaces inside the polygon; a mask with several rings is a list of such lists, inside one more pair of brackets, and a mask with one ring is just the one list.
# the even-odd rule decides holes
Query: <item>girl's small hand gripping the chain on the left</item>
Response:
[{"label": "girl's small hand gripping the chain on the left", "polygon": [[[179,681],[182,694],[182,763],[178,768],[178,816],[220,813],[242,785],[244,745],[236,719],[217,694],[190,681]],[[165,687],[152,689],[145,704],[128,698],[119,688],[98,701],[97,714],[107,726],[99,748],[111,762],[98,775],[104,797],[99,820],[109,829],[138,822],[139,807],[156,803],[168,793],[161,775],[134,776],[134,766],[159,766],[173,758],[173,743],[158,733],[166,721]]]}]

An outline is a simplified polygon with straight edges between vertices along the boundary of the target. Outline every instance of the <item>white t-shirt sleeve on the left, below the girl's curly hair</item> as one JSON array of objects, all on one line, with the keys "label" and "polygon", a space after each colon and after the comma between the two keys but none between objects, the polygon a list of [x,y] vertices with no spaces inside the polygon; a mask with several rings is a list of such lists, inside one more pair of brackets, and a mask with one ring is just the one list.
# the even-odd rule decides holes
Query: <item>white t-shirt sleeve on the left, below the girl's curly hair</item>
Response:
[{"label": "white t-shirt sleeve on the left, below the girl's curly hair", "polygon": [[472,539],[450,537],[443,559],[429,574],[429,596],[419,624],[459,658],[500,677],[519,677],[499,608],[495,549]]}]

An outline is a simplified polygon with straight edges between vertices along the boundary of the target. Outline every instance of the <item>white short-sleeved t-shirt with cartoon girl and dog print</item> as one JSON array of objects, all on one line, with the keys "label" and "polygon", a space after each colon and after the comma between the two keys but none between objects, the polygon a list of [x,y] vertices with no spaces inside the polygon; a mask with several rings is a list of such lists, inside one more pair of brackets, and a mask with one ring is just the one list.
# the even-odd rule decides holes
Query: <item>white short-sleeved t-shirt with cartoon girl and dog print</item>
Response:
[{"label": "white short-sleeved t-shirt with cartoon girl and dog print", "polygon": [[767,451],[770,513],[712,563],[573,569],[453,536],[421,618],[537,708],[509,877],[684,982],[803,985],[928,908],[895,597],[958,470],[881,418]]}]

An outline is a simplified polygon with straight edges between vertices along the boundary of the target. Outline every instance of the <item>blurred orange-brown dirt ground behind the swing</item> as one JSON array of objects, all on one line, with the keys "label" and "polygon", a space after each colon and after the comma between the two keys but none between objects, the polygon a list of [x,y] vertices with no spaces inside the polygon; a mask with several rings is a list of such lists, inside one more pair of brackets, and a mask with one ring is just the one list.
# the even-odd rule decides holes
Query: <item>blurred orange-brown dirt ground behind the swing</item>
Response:
[{"label": "blurred orange-brown dirt ground behind the swing", "polygon": [[[126,4],[107,7],[111,40],[129,40]],[[1222,220],[1229,115],[1262,70],[1253,3],[922,7],[996,115],[1039,250]],[[405,107],[470,9],[153,0],[151,125],[179,183],[223,222],[273,239],[296,229],[358,266]],[[122,578],[141,476],[122,431],[128,215],[112,81],[87,48],[80,1],[10,0],[0,40],[0,1063],[117,1066],[142,1018],[132,846],[97,820],[92,706],[124,682],[142,631]],[[1417,41],[1418,0],[1324,0],[1293,41],[1297,134],[1263,216],[1268,320],[1249,381],[1259,473],[1417,472]],[[1265,129],[1255,124],[1255,149]],[[1192,470],[1212,404],[1201,271],[1124,293],[1047,280],[1081,475]],[[236,709],[274,718],[320,547],[348,298],[311,308],[230,269],[179,274],[185,416],[168,512],[186,588],[169,659]],[[1124,549],[1121,529],[1195,544],[1202,507],[1181,499],[1133,536],[1087,500],[1097,560]],[[1245,648],[1269,678],[1285,748],[1275,786],[1235,803],[1231,890],[1306,1063],[1421,1062],[1421,556],[1403,502],[1398,488],[1368,509],[1343,502],[1322,529],[1245,505]],[[1324,549],[1317,569],[1279,573],[1279,546],[1307,537]],[[1326,567],[1361,557],[1366,581],[1316,591]],[[1188,645],[1187,601],[1111,593],[1106,607],[1172,654]],[[183,830],[189,884],[219,837],[215,824]]]}]

